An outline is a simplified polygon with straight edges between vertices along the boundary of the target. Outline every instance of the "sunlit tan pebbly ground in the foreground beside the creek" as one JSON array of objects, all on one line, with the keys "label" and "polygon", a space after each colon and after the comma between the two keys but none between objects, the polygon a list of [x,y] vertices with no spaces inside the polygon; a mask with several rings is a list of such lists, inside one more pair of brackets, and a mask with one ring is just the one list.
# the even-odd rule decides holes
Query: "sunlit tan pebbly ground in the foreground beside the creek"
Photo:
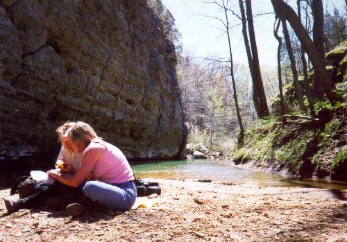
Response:
[{"label": "sunlit tan pebbly ground in the foreground beside the creek", "polygon": [[[0,204],[0,241],[347,241],[347,190],[158,180],[162,195],[123,214]],[[9,190],[1,190],[0,197]],[[150,207],[150,205],[152,205]]]}]

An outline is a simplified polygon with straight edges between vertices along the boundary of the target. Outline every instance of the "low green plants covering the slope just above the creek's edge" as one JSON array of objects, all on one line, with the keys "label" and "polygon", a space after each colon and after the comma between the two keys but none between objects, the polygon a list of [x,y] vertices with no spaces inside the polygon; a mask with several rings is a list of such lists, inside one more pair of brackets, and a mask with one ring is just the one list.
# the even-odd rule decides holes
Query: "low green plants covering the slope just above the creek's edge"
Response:
[{"label": "low green plants covering the slope just above the creek's edge", "polygon": [[[335,116],[321,130],[283,127],[278,123],[278,119],[279,117],[269,116],[248,130],[244,145],[235,148],[232,159],[253,160],[257,166],[269,166],[276,162],[278,166],[287,167],[294,174],[300,171],[304,159],[307,159],[307,153],[310,154],[312,164],[316,167],[321,166],[323,162],[326,164],[327,158],[321,159],[321,155],[330,154],[334,150],[336,144],[334,137],[339,131],[341,119]],[[330,157],[330,163],[328,166],[325,165],[325,168],[332,169],[345,159],[346,149],[337,153],[334,160]]]}]

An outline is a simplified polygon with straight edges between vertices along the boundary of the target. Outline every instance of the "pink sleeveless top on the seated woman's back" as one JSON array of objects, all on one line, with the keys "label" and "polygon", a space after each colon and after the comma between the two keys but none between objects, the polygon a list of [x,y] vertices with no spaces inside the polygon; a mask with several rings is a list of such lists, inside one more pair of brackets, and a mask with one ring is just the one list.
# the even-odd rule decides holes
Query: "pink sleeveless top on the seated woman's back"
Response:
[{"label": "pink sleeveless top on the seated woman's back", "polygon": [[105,153],[96,161],[91,172],[93,180],[108,184],[134,180],[133,171],[124,154],[112,144],[105,141],[92,141],[105,146]]}]

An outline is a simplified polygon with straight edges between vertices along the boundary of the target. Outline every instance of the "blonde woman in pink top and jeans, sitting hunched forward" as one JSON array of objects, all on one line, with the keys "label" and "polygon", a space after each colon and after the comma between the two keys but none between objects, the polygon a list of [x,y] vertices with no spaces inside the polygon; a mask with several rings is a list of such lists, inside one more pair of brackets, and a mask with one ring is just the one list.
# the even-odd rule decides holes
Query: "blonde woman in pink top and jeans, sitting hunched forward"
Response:
[{"label": "blonde woman in pink top and jeans, sitting hunched forward", "polygon": [[87,123],[76,122],[66,133],[74,152],[83,152],[81,166],[74,174],[52,170],[48,175],[70,187],[80,187],[87,198],[104,207],[130,209],[136,200],[136,187],[121,150],[99,138]]}]

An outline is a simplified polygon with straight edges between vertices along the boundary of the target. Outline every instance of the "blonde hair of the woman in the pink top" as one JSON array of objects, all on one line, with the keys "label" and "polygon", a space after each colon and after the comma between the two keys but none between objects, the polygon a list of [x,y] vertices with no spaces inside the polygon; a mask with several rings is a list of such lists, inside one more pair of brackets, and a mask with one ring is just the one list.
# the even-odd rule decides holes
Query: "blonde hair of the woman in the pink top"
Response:
[{"label": "blonde hair of the woman in the pink top", "polygon": [[70,142],[84,141],[86,144],[90,144],[93,139],[101,139],[89,124],[81,121],[69,127],[66,134]]}]

